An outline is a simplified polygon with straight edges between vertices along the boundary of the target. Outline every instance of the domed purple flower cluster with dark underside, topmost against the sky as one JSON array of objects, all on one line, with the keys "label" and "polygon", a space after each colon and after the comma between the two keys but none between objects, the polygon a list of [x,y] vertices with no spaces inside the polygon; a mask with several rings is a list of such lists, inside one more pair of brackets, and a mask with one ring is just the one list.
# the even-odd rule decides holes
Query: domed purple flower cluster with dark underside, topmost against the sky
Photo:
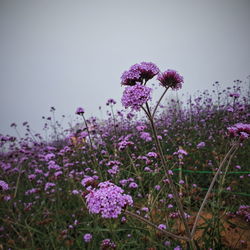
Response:
[{"label": "domed purple flower cluster with dark underside, topmost against the sky", "polygon": [[158,67],[151,62],[142,62],[134,64],[128,71],[125,71],[121,76],[121,84],[133,86],[136,83],[142,83],[143,80],[148,81],[159,73]]}]

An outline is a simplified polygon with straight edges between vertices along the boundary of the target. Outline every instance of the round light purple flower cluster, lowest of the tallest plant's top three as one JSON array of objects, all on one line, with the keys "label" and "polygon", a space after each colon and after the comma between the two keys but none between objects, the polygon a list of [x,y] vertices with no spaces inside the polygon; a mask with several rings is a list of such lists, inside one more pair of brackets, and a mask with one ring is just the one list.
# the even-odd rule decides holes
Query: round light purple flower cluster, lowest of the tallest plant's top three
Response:
[{"label": "round light purple flower cluster, lowest of the tallest plant's top three", "polygon": [[152,89],[144,85],[136,84],[127,87],[122,96],[122,105],[132,110],[140,110],[141,106],[151,99]]}]

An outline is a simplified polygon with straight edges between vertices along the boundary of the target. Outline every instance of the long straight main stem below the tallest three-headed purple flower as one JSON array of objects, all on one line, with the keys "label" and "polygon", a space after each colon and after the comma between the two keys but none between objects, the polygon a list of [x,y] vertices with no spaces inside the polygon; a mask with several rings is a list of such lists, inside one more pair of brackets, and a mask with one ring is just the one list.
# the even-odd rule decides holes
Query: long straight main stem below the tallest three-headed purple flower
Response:
[{"label": "long straight main stem below the tallest three-headed purple flower", "polygon": [[[157,131],[156,131],[156,128],[155,128],[155,125],[154,125],[154,118],[151,115],[148,103],[146,103],[146,114],[147,114],[147,116],[149,118],[149,121],[150,121],[150,125],[151,125],[152,131],[153,131],[153,135],[154,135],[156,147],[157,147],[157,150],[158,150],[158,152],[160,154],[160,159],[161,159],[162,165],[164,167],[166,176],[169,179],[169,184],[170,184],[171,190],[173,192],[174,199],[176,201],[177,207],[179,209],[180,216],[181,216],[181,219],[182,219],[184,227],[185,227],[186,235],[187,235],[189,241],[192,241],[191,233],[190,233],[190,230],[189,230],[189,227],[188,227],[188,223],[187,223],[187,220],[186,220],[186,217],[185,217],[185,213],[184,213],[184,209],[183,209],[180,197],[179,197],[178,192],[177,192],[177,190],[175,188],[175,185],[174,185],[174,182],[172,180],[172,177],[168,173],[167,163],[166,163],[163,151],[162,151],[162,147],[161,147],[160,141],[159,141],[158,136],[157,136]],[[194,245],[194,244],[192,244],[192,245]]]}]

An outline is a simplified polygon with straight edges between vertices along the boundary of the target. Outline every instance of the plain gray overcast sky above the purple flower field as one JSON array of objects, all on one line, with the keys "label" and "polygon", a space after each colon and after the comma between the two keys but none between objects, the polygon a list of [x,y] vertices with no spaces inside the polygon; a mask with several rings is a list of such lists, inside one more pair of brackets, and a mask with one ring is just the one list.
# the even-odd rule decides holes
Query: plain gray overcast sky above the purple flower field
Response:
[{"label": "plain gray overcast sky above the purple flower field", "polygon": [[0,0],[0,133],[43,115],[120,106],[120,76],[151,61],[184,76],[182,92],[250,74],[249,0]]}]

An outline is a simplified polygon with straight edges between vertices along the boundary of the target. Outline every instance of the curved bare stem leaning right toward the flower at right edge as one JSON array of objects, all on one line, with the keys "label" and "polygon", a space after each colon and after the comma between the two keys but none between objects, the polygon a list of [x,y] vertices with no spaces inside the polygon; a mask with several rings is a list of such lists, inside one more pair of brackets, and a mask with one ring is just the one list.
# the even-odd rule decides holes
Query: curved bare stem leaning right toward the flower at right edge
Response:
[{"label": "curved bare stem leaning right toward the flower at right edge", "polygon": [[204,198],[204,200],[202,201],[202,204],[201,204],[201,206],[200,206],[199,212],[198,212],[197,215],[196,215],[195,222],[194,222],[194,225],[193,225],[193,228],[192,228],[192,232],[191,232],[192,237],[194,236],[194,233],[195,233],[195,230],[196,230],[196,227],[197,227],[197,223],[198,223],[198,221],[199,221],[199,219],[200,219],[201,212],[202,212],[202,210],[203,210],[203,208],[204,208],[204,206],[205,206],[205,204],[206,204],[206,202],[207,202],[207,199],[208,199],[209,194],[210,194],[211,191],[212,191],[212,188],[213,188],[213,186],[214,186],[214,184],[215,184],[215,181],[216,181],[218,175],[220,174],[221,169],[222,169],[222,167],[224,166],[226,160],[228,159],[228,157],[231,155],[231,153],[232,153],[236,148],[237,148],[237,143],[234,143],[234,144],[232,145],[232,147],[230,148],[230,150],[229,150],[229,151],[227,152],[227,154],[225,155],[225,157],[224,157],[224,159],[222,160],[222,162],[220,163],[220,166],[219,166],[219,168],[218,168],[216,174],[214,175],[212,182],[210,183],[210,186],[209,186],[208,191],[207,191],[207,193],[206,193],[206,195],[205,195],[205,198]]}]

